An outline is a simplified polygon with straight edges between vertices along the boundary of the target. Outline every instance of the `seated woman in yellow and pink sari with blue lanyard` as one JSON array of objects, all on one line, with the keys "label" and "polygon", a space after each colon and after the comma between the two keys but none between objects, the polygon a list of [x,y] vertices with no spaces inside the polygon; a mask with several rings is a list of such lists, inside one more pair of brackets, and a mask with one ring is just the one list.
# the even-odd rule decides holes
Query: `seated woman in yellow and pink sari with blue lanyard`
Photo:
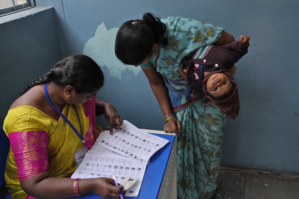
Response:
[{"label": "seated woman in yellow and pink sari with blue lanyard", "polygon": [[12,198],[73,198],[97,193],[120,198],[123,187],[111,178],[71,179],[74,153],[96,140],[95,116],[112,128],[122,119],[114,107],[96,99],[104,76],[91,58],[73,55],[33,81],[11,105],[3,129],[11,148],[5,181]]}]

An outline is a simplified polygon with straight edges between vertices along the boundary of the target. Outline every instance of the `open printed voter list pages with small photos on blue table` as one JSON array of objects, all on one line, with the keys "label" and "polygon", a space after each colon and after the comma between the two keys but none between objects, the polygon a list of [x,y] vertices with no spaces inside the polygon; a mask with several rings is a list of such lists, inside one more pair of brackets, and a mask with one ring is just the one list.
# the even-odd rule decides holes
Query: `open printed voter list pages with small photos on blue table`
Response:
[{"label": "open printed voter list pages with small photos on blue table", "polygon": [[118,183],[128,187],[126,196],[138,197],[150,157],[168,142],[124,120],[112,135],[101,132],[71,178],[112,178],[114,174]]}]

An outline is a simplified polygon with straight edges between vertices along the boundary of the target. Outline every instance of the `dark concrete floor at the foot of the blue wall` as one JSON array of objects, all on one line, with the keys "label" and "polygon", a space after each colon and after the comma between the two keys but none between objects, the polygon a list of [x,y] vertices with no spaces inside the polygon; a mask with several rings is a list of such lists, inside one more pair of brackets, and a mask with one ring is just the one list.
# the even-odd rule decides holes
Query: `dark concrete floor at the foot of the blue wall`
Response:
[{"label": "dark concrete floor at the foot of the blue wall", "polygon": [[221,167],[216,199],[299,199],[299,175]]}]

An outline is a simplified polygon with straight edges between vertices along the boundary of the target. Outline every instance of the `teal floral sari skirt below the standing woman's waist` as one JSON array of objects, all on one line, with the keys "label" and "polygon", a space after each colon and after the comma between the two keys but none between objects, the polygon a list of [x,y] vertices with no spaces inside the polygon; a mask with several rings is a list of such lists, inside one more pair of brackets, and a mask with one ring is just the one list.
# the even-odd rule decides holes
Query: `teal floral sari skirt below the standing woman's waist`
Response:
[{"label": "teal floral sari skirt below the standing woman's waist", "polygon": [[214,104],[197,100],[176,112],[178,198],[209,198],[217,188],[227,117]]}]

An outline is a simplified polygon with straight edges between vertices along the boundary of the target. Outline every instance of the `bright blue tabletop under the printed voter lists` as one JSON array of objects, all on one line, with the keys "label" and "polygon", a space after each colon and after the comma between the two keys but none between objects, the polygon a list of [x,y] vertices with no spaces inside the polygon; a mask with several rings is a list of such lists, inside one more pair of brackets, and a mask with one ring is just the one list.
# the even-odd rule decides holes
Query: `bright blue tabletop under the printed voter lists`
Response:
[{"label": "bright blue tabletop under the printed voter lists", "polygon": [[[175,136],[155,133],[151,134],[167,139],[169,140],[169,142],[150,158],[150,162],[145,170],[138,197],[124,196],[125,199],[154,199],[158,197]],[[82,198],[100,199],[101,197],[96,194],[88,194],[86,196],[83,196]]]}]

